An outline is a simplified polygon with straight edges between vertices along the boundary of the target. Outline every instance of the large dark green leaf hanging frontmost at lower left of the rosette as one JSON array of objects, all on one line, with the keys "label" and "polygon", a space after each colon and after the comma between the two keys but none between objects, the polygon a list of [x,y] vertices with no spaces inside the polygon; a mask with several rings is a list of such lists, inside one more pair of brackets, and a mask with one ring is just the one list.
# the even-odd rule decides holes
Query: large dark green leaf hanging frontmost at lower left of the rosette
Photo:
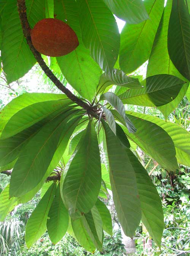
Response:
[{"label": "large dark green leaf hanging frontmost at lower left of the rosette", "polygon": [[22,149],[11,175],[10,197],[24,195],[41,182],[72,114],[67,112],[51,120]]}]

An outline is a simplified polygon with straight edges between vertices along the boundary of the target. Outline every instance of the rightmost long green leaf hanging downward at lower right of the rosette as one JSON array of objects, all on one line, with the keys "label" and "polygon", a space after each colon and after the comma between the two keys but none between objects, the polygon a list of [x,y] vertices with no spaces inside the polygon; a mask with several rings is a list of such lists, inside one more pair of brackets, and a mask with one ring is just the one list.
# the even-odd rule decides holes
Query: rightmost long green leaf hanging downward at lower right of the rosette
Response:
[{"label": "rightmost long green leaf hanging downward at lower right of the rosette", "polygon": [[160,247],[164,227],[164,216],[160,196],[147,171],[135,155],[130,149],[126,149],[126,152],[136,174],[138,193],[141,201],[142,222],[150,236]]}]

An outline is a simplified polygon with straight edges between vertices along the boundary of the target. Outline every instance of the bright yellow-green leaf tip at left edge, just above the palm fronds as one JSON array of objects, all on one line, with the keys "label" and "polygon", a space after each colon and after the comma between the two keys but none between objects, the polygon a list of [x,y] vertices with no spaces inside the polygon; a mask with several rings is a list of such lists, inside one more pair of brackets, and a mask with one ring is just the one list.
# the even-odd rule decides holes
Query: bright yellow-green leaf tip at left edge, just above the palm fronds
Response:
[{"label": "bright yellow-green leaf tip at left edge, just above the palm fronds", "polygon": [[7,214],[17,205],[17,198],[9,198],[9,184],[0,194],[0,221],[4,221]]}]

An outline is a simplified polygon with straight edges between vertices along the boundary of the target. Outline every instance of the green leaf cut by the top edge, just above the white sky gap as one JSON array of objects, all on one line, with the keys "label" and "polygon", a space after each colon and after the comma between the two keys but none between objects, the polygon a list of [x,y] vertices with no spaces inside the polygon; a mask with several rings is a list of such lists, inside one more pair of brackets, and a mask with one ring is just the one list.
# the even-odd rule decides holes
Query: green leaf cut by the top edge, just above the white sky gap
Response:
[{"label": "green leaf cut by the top edge, just above the white sky gap", "polygon": [[149,18],[141,0],[104,0],[112,13],[128,24],[140,23]]}]

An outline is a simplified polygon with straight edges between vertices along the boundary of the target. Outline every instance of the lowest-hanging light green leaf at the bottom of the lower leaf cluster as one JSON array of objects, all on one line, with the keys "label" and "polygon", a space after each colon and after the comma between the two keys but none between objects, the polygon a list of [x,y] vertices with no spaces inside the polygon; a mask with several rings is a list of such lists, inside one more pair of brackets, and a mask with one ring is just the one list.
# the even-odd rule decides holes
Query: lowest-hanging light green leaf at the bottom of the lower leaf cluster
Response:
[{"label": "lowest-hanging light green leaf at the bottom of the lower leaf cluster", "polygon": [[94,253],[95,245],[92,242],[92,239],[90,238],[89,234],[87,233],[86,228],[84,227],[82,218],[75,220],[71,219],[71,224],[73,227],[74,235],[76,236],[81,246],[84,247],[85,250]]}]

